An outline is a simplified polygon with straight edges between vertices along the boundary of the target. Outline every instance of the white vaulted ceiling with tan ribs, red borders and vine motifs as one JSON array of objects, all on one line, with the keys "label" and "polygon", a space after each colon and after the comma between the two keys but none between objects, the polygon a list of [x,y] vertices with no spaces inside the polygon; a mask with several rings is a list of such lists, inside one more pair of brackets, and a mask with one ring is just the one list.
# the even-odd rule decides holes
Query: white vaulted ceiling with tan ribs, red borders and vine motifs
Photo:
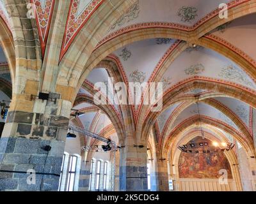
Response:
[{"label": "white vaulted ceiling with tan ribs, red borders and vine motifs", "polygon": [[[54,1],[31,0],[31,3],[36,6],[36,23],[44,57]],[[232,19],[220,20],[220,3],[227,3],[230,12],[234,13],[235,8],[241,12],[237,11]],[[222,133],[230,140],[231,132],[225,131],[225,128],[230,128],[252,142],[253,108],[256,106],[253,107],[248,96],[254,96],[256,91],[256,75],[253,75],[256,50],[252,46],[255,44],[256,16],[253,11],[246,15],[246,12],[250,13],[245,9],[250,3],[255,2],[131,1],[129,8],[103,34],[84,64],[85,69],[92,66],[92,71],[77,95],[74,108],[85,112],[77,120],[95,133],[103,134],[104,128],[109,126],[116,133],[118,127],[125,126],[124,109],[118,105],[108,107],[109,112],[116,116],[113,122],[109,112],[103,113],[99,106],[91,103],[93,85],[108,83],[108,77],[126,84],[163,82],[163,110],[151,113],[143,106],[131,106],[134,129],[142,131],[149,127],[147,133],[155,129],[157,143],[164,147],[164,142],[175,129],[184,126],[188,120],[195,120],[198,124],[196,118],[202,117],[205,131]],[[8,13],[3,5],[2,0],[0,14],[8,24]],[[93,12],[104,6],[104,1],[74,0],[69,6],[60,61]],[[6,62],[1,53],[0,50],[0,61]],[[115,66],[115,71],[111,73],[106,64]],[[10,82],[8,73],[4,72],[6,68],[1,67],[0,79]],[[193,128],[200,129],[199,126]]]}]

